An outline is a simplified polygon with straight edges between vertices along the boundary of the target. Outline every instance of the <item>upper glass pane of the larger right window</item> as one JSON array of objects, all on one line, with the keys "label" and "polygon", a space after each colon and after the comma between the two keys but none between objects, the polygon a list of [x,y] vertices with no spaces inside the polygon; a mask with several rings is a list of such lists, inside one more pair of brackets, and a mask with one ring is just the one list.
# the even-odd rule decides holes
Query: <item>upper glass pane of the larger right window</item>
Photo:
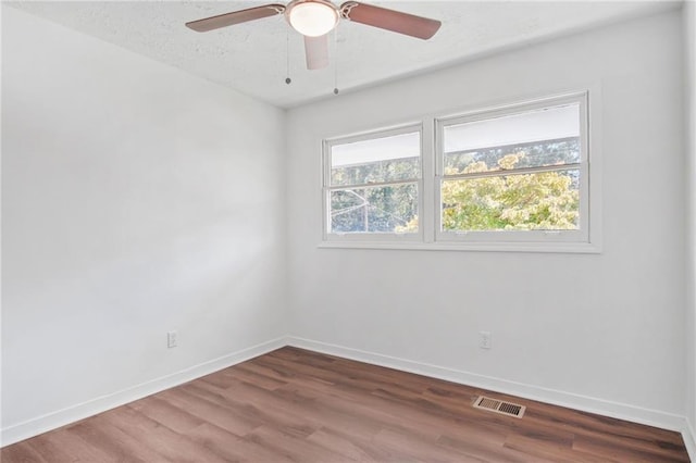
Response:
[{"label": "upper glass pane of the larger right window", "polygon": [[444,145],[445,175],[579,163],[580,105],[449,125]]}]

